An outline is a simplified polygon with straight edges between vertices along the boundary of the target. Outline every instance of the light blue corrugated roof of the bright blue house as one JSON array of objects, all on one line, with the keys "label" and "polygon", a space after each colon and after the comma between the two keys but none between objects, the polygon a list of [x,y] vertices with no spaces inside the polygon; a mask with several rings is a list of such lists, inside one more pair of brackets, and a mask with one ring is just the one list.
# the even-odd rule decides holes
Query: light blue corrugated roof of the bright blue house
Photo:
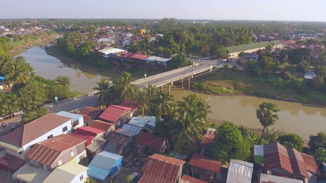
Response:
[{"label": "light blue corrugated roof of the bright blue house", "polygon": [[103,168],[105,170],[111,170],[115,166],[115,163],[122,158],[123,156],[102,151],[101,153],[95,155],[90,165]]}]

